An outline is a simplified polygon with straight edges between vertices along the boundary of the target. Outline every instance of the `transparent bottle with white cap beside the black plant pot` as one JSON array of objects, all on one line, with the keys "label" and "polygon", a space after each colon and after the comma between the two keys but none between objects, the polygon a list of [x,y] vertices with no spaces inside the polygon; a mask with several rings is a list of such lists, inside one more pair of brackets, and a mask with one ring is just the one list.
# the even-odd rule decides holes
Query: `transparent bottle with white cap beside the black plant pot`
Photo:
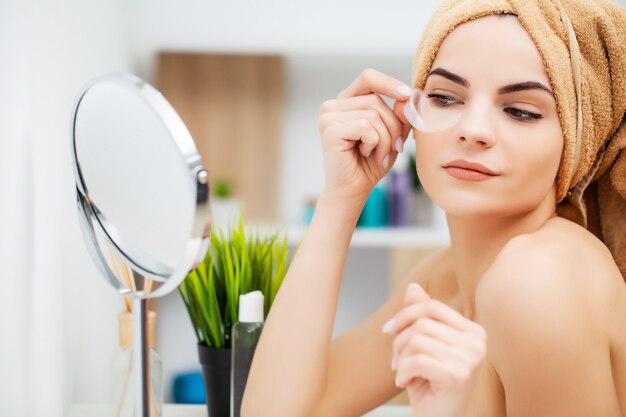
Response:
[{"label": "transparent bottle with white cap beside the black plant pot", "polygon": [[252,357],[263,330],[263,293],[252,291],[239,296],[239,322],[232,330],[230,374],[230,416],[239,417]]}]

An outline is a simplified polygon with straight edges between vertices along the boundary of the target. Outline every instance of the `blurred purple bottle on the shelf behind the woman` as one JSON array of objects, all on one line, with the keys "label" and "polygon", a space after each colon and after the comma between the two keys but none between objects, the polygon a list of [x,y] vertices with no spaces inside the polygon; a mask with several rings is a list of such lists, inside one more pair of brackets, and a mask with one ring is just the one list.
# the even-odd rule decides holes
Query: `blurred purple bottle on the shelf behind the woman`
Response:
[{"label": "blurred purple bottle on the shelf behind the woman", "polygon": [[411,219],[411,173],[406,153],[398,155],[389,173],[387,189],[389,202],[389,224],[392,227],[408,226]]}]

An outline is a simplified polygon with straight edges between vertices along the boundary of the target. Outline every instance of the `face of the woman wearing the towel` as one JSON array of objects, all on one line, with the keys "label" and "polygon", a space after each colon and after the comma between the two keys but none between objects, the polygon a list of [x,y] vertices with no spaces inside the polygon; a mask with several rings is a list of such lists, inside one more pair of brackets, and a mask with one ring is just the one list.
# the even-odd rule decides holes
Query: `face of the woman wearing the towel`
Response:
[{"label": "face of the woman wearing the towel", "polygon": [[[444,39],[426,81],[433,105],[461,109],[454,127],[414,131],[420,180],[459,216],[526,213],[555,198],[563,149],[556,101],[541,56],[514,16],[485,16]],[[475,175],[452,161],[478,163]]]}]

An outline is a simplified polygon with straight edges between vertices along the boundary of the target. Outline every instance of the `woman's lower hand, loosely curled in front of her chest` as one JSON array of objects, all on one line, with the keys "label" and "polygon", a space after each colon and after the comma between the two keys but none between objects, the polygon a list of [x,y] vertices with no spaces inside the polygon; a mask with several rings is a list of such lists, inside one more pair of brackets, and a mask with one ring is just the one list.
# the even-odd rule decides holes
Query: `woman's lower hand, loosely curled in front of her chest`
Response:
[{"label": "woman's lower hand, loosely curled in front of her chest", "polygon": [[383,331],[394,335],[392,368],[412,415],[463,416],[487,351],[482,326],[411,284]]}]

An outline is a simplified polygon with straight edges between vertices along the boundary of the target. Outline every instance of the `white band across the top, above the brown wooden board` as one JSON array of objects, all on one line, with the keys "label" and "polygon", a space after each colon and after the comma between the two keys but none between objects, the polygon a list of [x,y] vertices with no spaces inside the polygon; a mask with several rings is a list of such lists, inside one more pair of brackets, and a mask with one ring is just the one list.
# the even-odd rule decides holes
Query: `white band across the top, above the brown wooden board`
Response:
[{"label": "white band across the top, above the brown wooden board", "polygon": [[158,50],[412,56],[437,1],[135,0],[134,68],[153,79]]}]

